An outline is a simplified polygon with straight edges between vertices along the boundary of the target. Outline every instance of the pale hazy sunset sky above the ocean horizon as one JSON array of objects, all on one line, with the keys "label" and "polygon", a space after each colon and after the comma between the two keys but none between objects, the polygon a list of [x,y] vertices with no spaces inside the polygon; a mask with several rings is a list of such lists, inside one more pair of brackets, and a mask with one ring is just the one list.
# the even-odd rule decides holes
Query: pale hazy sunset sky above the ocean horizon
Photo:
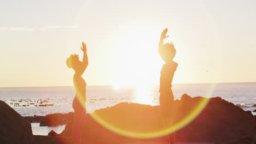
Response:
[{"label": "pale hazy sunset sky above the ocean horizon", "polygon": [[[164,28],[173,83],[256,81],[256,1],[1,1],[0,87],[73,85],[88,46],[88,85],[158,84]],[[207,72],[208,71],[208,72]]]}]

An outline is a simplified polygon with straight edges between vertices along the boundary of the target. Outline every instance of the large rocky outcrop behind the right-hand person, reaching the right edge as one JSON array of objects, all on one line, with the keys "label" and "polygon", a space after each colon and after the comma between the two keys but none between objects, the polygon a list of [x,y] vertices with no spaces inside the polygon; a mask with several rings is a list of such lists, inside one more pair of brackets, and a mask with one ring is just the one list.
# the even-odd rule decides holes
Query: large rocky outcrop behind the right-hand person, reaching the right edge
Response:
[{"label": "large rocky outcrop behind the right-hand person, reaching the right edge", "polygon": [[[178,124],[205,99],[207,98],[191,98],[187,94],[182,95],[181,100],[175,100],[174,112],[168,121]],[[160,113],[160,106],[132,103],[120,103],[94,112],[114,127],[137,133],[152,133],[163,130],[164,125]],[[170,127],[170,123],[167,122],[166,127]],[[255,130],[256,118],[251,111],[244,111],[240,107],[217,97],[211,98],[205,109],[192,122],[176,131],[176,141],[224,143],[254,135]],[[60,136],[71,136],[71,131],[72,123],[69,123]],[[108,130],[98,124],[90,115],[86,115],[83,140],[87,143],[161,142],[166,141],[166,136],[153,139],[126,137]]]}]

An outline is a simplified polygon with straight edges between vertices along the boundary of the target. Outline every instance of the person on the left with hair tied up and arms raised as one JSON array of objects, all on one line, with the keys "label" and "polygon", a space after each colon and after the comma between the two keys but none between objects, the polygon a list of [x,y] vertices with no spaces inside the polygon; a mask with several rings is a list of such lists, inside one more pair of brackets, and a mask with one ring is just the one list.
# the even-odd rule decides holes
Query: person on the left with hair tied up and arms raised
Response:
[{"label": "person on the left with hair tied up and arms raised", "polygon": [[83,118],[86,114],[85,110],[85,101],[86,101],[86,82],[84,81],[82,75],[85,69],[88,66],[88,56],[86,52],[86,44],[82,43],[83,47],[80,47],[84,52],[83,62],[79,61],[78,55],[70,55],[67,58],[67,66],[68,68],[73,68],[75,74],[73,76],[73,82],[75,87],[75,97],[73,100],[73,109],[74,109],[74,122],[72,128],[72,138],[73,143],[81,143],[81,135],[83,128]]}]

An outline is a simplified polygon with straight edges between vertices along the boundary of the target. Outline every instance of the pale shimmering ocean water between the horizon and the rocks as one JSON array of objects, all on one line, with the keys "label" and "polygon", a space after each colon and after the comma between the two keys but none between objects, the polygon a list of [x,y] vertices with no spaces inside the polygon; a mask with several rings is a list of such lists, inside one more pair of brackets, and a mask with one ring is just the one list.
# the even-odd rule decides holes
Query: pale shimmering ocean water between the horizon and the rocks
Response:
[{"label": "pale shimmering ocean water between the horizon and the rocks", "polygon": [[[88,113],[118,103],[159,105],[159,86],[87,86],[86,108]],[[250,83],[196,83],[174,84],[174,99],[187,93],[191,97],[221,97],[246,111],[256,107],[256,82]],[[50,113],[73,112],[74,87],[7,87],[0,88],[0,100],[5,101],[21,116],[45,116]],[[256,112],[252,112],[256,115]],[[39,127],[33,123],[34,134],[47,135],[50,130],[61,133],[65,125],[57,128]]]}]

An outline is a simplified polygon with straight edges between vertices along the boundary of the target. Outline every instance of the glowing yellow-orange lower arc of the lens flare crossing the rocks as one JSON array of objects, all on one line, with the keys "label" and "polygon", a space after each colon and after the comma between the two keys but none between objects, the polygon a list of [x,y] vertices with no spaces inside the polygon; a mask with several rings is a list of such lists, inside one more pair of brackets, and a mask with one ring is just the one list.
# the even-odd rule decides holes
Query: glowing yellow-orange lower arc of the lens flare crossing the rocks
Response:
[{"label": "glowing yellow-orange lower arc of the lens flare crossing the rocks", "polygon": [[[185,125],[189,124],[191,121],[193,121],[194,118],[196,118],[201,111],[206,107],[208,101],[210,100],[210,96],[214,90],[214,87],[216,85],[213,85],[211,87],[211,90],[207,93],[206,97],[203,98],[201,97],[199,100],[199,103],[197,103],[196,107],[193,108],[189,113],[187,113],[182,119],[179,119],[179,122],[176,122],[172,125],[167,125],[166,128],[162,128],[159,130],[152,130],[152,131],[132,131],[129,129],[124,129],[122,127],[118,127],[114,121],[106,121],[104,117],[106,114],[98,114],[96,112],[91,113],[90,116],[95,119],[96,122],[100,123],[103,127],[107,128],[108,130],[114,131],[117,134],[128,136],[128,137],[135,137],[135,138],[141,138],[141,139],[147,139],[147,138],[154,138],[154,137],[160,137],[160,136],[165,136],[168,134],[171,134],[183,127]],[[86,106],[84,105],[84,99],[82,98],[81,94],[77,94],[78,100],[80,101],[81,104],[83,104],[84,109],[86,109]],[[128,107],[129,108],[129,107]],[[116,115],[115,115],[116,116]],[[117,116],[116,116],[117,117]],[[141,123],[142,125],[147,124],[147,123]],[[148,125],[150,127],[150,125]]]}]

